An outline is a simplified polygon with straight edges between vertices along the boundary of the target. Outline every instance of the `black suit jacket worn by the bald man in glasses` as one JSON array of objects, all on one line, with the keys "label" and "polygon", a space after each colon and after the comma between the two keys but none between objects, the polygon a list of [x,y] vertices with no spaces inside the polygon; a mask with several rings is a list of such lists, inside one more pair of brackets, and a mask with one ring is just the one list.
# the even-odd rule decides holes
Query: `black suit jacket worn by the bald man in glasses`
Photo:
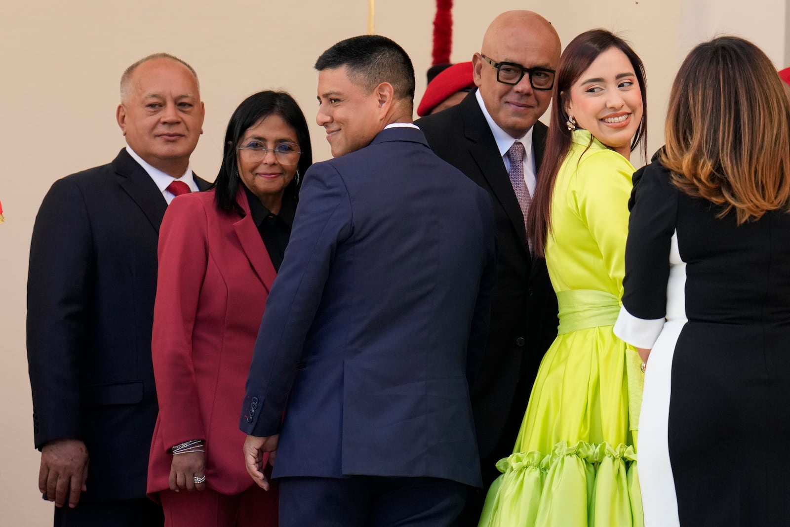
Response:
[{"label": "black suit jacket worn by the bald man in glasses", "polygon": [[[524,415],[540,359],[557,336],[557,298],[545,260],[530,256],[521,208],[475,92],[416,125],[439,157],[495,198],[497,284],[486,356],[472,390],[480,457],[487,457],[503,439],[508,417]],[[532,127],[536,168],[547,130],[541,122]],[[512,448],[516,437],[504,439]]]}]

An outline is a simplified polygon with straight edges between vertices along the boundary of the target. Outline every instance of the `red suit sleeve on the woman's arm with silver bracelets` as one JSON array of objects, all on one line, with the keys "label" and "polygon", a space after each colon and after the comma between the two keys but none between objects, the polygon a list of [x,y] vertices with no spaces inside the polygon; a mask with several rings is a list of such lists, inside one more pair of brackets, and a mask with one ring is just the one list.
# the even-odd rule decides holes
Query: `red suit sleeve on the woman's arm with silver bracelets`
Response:
[{"label": "red suit sleeve on the woman's arm with silver bracelets", "polygon": [[174,199],[160,228],[151,341],[165,450],[190,439],[205,439],[198,408],[192,332],[208,265],[207,239],[202,202],[195,196]]}]

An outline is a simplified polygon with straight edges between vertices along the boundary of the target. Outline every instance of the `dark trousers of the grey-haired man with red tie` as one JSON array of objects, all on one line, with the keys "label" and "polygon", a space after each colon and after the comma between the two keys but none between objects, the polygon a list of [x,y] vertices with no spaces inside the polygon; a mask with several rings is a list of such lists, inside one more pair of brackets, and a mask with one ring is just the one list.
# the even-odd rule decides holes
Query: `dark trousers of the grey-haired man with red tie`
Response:
[{"label": "dark trousers of the grey-haired man with red tie", "polygon": [[55,507],[55,527],[162,527],[162,507],[148,498],[108,502],[81,501]]}]

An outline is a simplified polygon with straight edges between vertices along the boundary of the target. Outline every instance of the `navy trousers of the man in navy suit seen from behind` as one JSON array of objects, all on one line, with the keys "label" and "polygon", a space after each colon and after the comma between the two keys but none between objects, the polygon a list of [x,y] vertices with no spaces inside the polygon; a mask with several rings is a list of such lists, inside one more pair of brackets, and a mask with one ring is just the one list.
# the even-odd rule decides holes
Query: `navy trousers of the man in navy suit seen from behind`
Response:
[{"label": "navy trousers of the man in navy suit seen from behind", "polygon": [[280,527],[452,527],[468,490],[431,477],[284,477]]}]

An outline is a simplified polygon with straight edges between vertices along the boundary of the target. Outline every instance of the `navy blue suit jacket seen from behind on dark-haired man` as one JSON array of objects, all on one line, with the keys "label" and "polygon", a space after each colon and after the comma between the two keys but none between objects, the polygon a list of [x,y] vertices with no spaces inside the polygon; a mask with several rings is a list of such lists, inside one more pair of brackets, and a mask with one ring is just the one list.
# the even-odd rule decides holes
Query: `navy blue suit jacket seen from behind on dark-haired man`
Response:
[{"label": "navy blue suit jacket seen from behind on dark-haired man", "polygon": [[488,194],[413,128],[307,171],[240,423],[280,432],[273,476],[480,486],[468,373],[487,336],[493,224]]}]

